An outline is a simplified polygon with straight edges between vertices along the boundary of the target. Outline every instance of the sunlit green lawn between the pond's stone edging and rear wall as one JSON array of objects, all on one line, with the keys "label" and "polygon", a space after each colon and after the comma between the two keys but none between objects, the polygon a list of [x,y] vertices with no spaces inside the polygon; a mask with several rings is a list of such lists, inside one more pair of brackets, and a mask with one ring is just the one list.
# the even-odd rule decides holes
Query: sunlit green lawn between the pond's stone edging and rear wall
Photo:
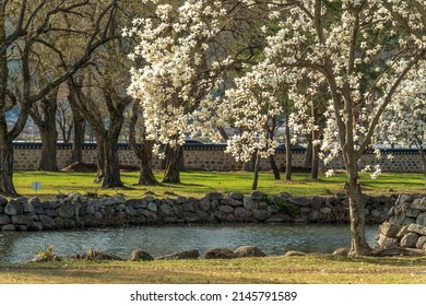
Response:
[{"label": "sunlit green lawn between the pond's stone edging and rear wall", "polygon": [[[17,192],[34,197],[32,181],[42,181],[38,197],[49,199],[59,192],[79,191],[83,195],[94,192],[98,196],[123,195],[128,198],[153,195],[156,197],[197,197],[206,192],[239,191],[249,193],[251,190],[252,173],[245,172],[185,172],[181,173],[181,184],[158,185],[153,187],[135,186],[139,173],[122,173],[123,189],[103,190],[99,184],[93,183],[94,174],[87,173],[46,173],[16,172],[14,184]],[[158,180],[163,173],[156,173]],[[274,180],[271,173],[261,173],[258,189],[265,193],[288,192],[293,196],[329,196],[343,191],[345,174],[333,177],[321,176],[319,180],[310,180],[309,174],[294,174],[292,181]],[[390,193],[426,193],[424,178],[421,174],[382,174],[377,179],[368,175],[362,176],[363,190],[368,195]]]}]

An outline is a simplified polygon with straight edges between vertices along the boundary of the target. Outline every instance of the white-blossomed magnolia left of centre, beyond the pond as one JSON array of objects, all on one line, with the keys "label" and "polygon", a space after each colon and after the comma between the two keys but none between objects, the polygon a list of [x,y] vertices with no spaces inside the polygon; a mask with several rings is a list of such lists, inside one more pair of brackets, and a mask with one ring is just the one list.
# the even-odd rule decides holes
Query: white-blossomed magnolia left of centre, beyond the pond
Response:
[{"label": "white-blossomed magnolia left of centre, beyond the pond", "polygon": [[[130,57],[144,62],[131,71],[128,92],[141,102],[146,137],[157,141],[154,151],[162,143],[179,152],[186,134],[211,132],[220,123],[213,115],[220,99],[212,93],[223,86],[226,70],[250,57],[249,32],[237,33],[249,26],[249,16],[240,14],[241,1],[145,2],[156,5],[155,15],[125,31],[140,39]],[[179,181],[177,164],[166,165],[164,181]]]}]

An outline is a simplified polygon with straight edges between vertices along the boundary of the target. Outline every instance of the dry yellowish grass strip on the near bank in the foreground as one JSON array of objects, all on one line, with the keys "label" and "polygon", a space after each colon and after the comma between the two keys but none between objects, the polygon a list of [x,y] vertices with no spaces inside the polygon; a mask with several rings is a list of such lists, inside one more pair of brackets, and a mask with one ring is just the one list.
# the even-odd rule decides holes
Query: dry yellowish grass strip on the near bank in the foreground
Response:
[{"label": "dry yellowish grass strip on the near bank in the foreground", "polygon": [[1,283],[426,283],[426,257],[268,257],[0,266]]}]

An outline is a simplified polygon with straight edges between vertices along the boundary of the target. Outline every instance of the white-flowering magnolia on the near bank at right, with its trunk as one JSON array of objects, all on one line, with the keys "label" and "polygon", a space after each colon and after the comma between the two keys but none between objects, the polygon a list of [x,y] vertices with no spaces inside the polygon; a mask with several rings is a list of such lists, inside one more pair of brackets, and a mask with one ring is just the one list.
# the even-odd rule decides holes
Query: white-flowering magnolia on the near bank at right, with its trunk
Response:
[{"label": "white-flowering magnolia on the near bank at right, with its trunk", "polygon": [[[347,169],[350,255],[370,250],[358,162],[402,81],[425,55],[422,36],[411,32],[422,24],[424,11],[413,14],[401,2],[283,0],[270,5],[281,30],[269,38],[264,61],[277,69],[315,71],[328,84],[331,99],[321,149],[326,163],[341,156]],[[424,1],[416,2],[425,8]],[[289,93],[300,106],[310,103],[297,91]]]}]

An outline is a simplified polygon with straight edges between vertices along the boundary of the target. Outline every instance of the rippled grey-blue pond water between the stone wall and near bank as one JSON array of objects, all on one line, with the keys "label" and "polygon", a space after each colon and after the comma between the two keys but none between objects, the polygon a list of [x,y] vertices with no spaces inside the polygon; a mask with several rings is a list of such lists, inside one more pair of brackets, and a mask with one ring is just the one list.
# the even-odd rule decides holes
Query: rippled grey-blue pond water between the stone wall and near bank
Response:
[{"label": "rippled grey-blue pond water between the stone wall and near bank", "polygon": [[[378,225],[366,227],[372,246]],[[177,250],[198,249],[203,257],[209,248],[232,250],[255,245],[267,255],[287,250],[332,252],[350,245],[348,225],[244,224],[244,225],[173,225],[122,228],[95,228],[61,232],[0,232],[0,262],[22,262],[47,246],[61,256],[90,249],[108,250],[127,258],[135,248],[153,257]]]}]

